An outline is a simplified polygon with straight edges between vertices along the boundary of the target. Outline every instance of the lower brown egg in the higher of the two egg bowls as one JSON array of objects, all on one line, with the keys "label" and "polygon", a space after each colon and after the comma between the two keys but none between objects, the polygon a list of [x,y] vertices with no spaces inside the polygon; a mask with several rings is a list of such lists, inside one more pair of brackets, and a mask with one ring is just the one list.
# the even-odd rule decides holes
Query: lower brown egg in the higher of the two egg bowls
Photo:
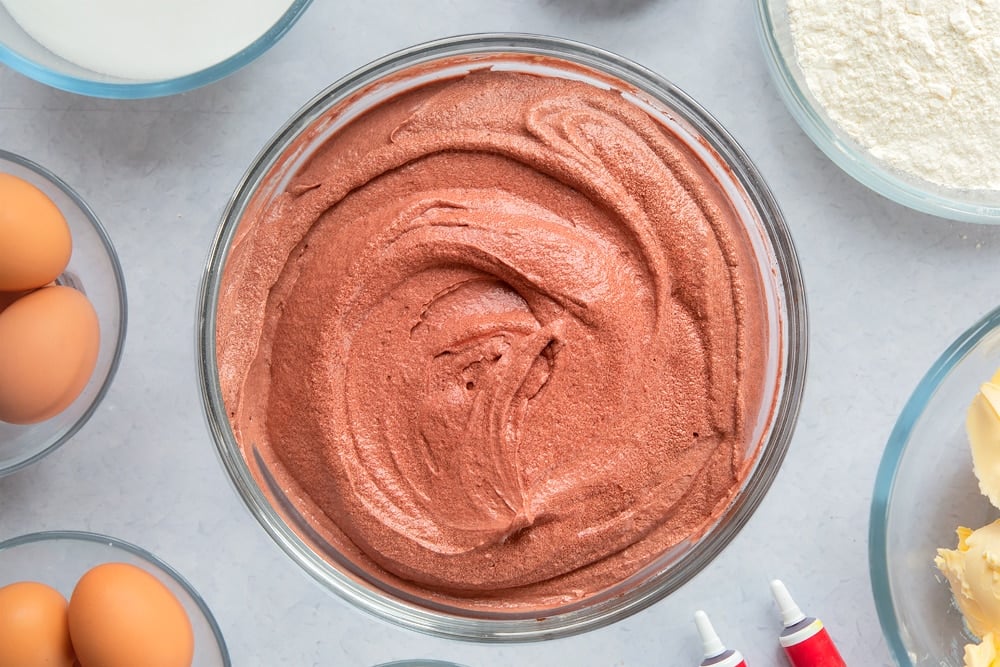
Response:
[{"label": "lower brown egg in the higher of the two egg bowls", "polygon": [[0,312],[0,420],[33,424],[69,406],[94,372],[97,314],[72,287],[44,287]]}]

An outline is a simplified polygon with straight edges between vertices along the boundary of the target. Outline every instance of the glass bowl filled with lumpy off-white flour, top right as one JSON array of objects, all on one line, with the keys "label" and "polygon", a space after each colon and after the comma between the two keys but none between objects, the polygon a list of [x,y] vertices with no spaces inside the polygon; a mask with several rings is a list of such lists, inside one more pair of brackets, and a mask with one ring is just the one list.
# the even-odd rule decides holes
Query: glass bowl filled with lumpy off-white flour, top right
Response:
[{"label": "glass bowl filled with lumpy off-white flour, top right", "polygon": [[918,211],[1000,222],[1000,5],[756,6],[778,90],[831,160]]}]

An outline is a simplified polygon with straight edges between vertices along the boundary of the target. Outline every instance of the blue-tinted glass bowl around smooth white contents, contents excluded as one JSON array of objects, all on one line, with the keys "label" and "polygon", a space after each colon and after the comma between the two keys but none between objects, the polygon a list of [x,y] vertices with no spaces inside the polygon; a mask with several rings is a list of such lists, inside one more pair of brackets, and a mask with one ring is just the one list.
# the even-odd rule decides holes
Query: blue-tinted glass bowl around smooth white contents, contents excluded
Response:
[{"label": "blue-tinted glass bowl around smooth white contents, contents excluded", "polygon": [[193,74],[159,81],[122,79],[75,65],[35,41],[0,3],[0,63],[53,88],[80,95],[116,99],[174,95],[218,81],[253,62],[288,32],[311,2],[290,0],[288,10],[267,32],[222,62]]}]

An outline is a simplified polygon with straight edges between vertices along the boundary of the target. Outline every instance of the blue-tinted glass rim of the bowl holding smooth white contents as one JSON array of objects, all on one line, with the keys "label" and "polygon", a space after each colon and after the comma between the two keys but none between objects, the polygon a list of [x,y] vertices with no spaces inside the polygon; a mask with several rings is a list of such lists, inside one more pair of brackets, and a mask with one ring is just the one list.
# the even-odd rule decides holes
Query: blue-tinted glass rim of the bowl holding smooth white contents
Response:
[{"label": "blue-tinted glass rim of the bowl holding smooth white contents", "polygon": [[[295,25],[305,10],[308,9],[309,5],[312,4],[312,1],[293,0],[288,9],[285,10],[281,17],[264,34],[225,60],[221,60],[197,72],[169,79],[154,81],[137,80],[135,82],[125,80],[114,82],[96,81],[81,76],[57,72],[49,67],[40,65],[34,60],[17,53],[2,42],[0,42],[0,63],[39,83],[79,95],[119,100],[165,97],[207,86],[249,65],[277,44],[285,33],[291,30],[292,26]],[[32,39],[34,38],[32,37]],[[97,73],[95,72],[95,74]]]}]

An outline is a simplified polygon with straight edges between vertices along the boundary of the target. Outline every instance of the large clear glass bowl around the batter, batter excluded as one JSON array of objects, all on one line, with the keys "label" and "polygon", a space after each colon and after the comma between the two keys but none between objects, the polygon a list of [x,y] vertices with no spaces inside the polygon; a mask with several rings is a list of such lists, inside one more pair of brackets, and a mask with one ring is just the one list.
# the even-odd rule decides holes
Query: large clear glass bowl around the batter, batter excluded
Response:
[{"label": "large clear glass bowl around the batter, batter excluded", "polygon": [[[532,55],[545,56],[544,66],[526,57]],[[364,110],[430,81],[486,67],[566,76],[603,87],[612,80],[626,99],[685,137],[740,209],[769,311],[767,408],[757,421],[758,455],[726,511],[702,535],[682,542],[621,584],[574,605],[545,609],[544,617],[537,611],[483,612],[428,603],[352,567],[292,509],[252,446],[244,454],[230,427],[217,371],[220,281],[247,211],[266,206],[318,146]],[[303,137],[309,140],[289,152]],[[798,260],[778,206],[746,154],[704,109],[653,72],[594,47],[531,35],[472,35],[406,49],[348,75],[306,104],[260,153],[224,212],[210,251],[199,296],[198,371],[209,427],[237,492],[275,542],[325,588],[361,609],[430,634],[526,641],[583,632],[647,607],[694,576],[736,535],[763,498],[788,447],[803,387],[806,328]]]}]

